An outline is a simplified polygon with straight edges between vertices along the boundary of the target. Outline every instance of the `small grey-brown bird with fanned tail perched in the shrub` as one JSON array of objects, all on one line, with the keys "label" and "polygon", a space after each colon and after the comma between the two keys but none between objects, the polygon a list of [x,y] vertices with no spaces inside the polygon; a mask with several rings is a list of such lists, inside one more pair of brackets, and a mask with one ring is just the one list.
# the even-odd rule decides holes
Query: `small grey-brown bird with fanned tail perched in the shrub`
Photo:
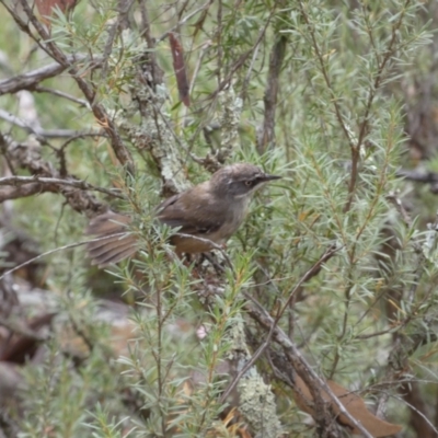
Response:
[{"label": "small grey-brown bird with fanned tail perched in the shrub", "polygon": [[[171,238],[176,253],[207,252],[215,244],[226,243],[238,230],[254,192],[264,183],[280,177],[268,175],[253,164],[227,165],[209,181],[164,200],[157,208],[157,218],[169,227],[178,228]],[[97,216],[90,222],[87,234],[100,239],[88,244],[93,264],[103,267],[117,263],[138,250],[138,239],[128,229],[130,222],[129,216],[115,212]]]}]

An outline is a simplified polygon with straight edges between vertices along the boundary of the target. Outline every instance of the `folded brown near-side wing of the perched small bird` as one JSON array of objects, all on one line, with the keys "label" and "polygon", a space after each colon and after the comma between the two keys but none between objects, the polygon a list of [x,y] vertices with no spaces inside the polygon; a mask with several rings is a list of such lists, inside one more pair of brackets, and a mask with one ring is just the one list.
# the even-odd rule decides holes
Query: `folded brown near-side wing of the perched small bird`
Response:
[{"label": "folded brown near-side wing of the perched small bird", "polygon": [[209,234],[217,231],[226,219],[226,210],[215,208],[210,196],[192,191],[174,195],[158,208],[158,218],[169,227],[181,227],[184,234]]}]

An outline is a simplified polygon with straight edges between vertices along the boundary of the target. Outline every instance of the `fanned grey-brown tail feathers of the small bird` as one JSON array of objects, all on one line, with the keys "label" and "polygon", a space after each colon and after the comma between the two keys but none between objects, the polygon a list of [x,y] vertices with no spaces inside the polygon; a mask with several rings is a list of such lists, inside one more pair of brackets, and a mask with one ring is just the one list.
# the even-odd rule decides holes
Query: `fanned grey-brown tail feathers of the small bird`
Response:
[{"label": "fanned grey-brown tail feathers of the small bird", "polygon": [[120,262],[137,251],[137,237],[129,231],[128,216],[106,212],[90,221],[85,233],[99,239],[87,245],[93,265],[99,267]]}]

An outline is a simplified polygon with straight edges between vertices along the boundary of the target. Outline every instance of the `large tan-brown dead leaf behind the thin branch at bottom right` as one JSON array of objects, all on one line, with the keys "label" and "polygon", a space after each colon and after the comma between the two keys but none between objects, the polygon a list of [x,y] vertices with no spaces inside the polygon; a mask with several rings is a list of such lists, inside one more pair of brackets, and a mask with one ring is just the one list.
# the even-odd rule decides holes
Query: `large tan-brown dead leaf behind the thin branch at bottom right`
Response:
[{"label": "large tan-brown dead leaf behind the thin branch at bottom right", "polygon": [[[293,397],[297,405],[308,414],[314,416],[313,407],[310,406],[310,403],[313,401],[313,397],[310,393],[308,385],[297,374],[296,383],[299,391],[293,391]],[[356,418],[361,425],[374,437],[388,437],[390,435],[394,435],[402,430],[402,426],[394,425],[383,419],[378,418],[376,415],[371,414],[364,402],[364,400],[350,392],[349,390],[341,387],[336,382],[328,380],[327,385],[333,391],[333,393],[338,397],[339,402],[345,406],[347,412]],[[331,401],[330,395],[322,391],[322,397],[326,401]],[[338,407],[332,402],[331,403],[332,411],[337,415],[337,422],[351,431],[351,434],[360,435],[360,430],[357,429],[351,422],[343,414],[339,413]]]}]

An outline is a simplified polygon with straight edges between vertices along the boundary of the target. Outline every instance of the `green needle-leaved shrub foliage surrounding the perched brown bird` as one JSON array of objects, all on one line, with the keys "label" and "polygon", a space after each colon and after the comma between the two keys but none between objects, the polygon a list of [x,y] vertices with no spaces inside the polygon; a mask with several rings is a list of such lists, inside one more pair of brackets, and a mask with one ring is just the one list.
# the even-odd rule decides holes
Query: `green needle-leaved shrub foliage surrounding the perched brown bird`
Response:
[{"label": "green needle-leaved shrub foliage surrounding the perched brown bird", "polygon": [[[77,364],[66,353],[60,330],[47,344],[44,361],[24,367],[20,436],[215,436],[208,434],[219,430],[215,422],[226,404],[219,402],[220,394],[230,377],[221,365],[235,354],[232,328],[245,324],[258,342],[254,350],[267,335],[245,313],[242,292],[276,318],[295,291],[293,306],[278,318],[279,326],[319,374],[346,388],[380,400],[380,382],[388,380],[393,394],[400,383],[395,371],[401,369],[408,370],[413,381],[436,383],[437,226],[425,231],[424,223],[437,206],[434,199],[425,214],[428,205],[422,205],[412,215],[420,218],[413,221],[401,204],[408,186],[396,178],[406,145],[401,83],[411,80],[412,65],[424,57],[431,38],[420,18],[423,2],[367,1],[351,7],[312,0],[280,8],[270,1],[221,1],[197,13],[198,1],[186,2],[181,11],[181,4],[139,3],[150,8],[154,37],[193,13],[177,26],[187,69],[196,71],[191,108],[177,104],[166,39],[159,39],[152,51],[143,39],[150,31],[140,26],[140,7],[129,12],[130,26],[115,32],[100,70],[93,65],[107,50],[112,26],[120,16],[118,2],[80,2],[69,16],[58,11],[51,18],[51,41],[66,55],[88,54],[88,60],[78,64],[79,76],[92,84],[95,102],[111,115],[136,164],[136,174],[127,176],[103,137],[78,138],[65,147],[69,172],[96,186],[117,186],[125,199],[114,200],[113,208],[135,217],[131,231],[141,240],[141,251],[130,264],[111,268],[111,280],[104,283],[104,289],[113,283],[123,288],[132,308],[134,333],[127,354],[114,351],[108,346],[112,322],[96,319],[100,311],[83,250],[54,257],[45,287],[56,296],[61,325],[85,339],[89,348]],[[21,65],[13,50],[28,57],[27,68],[42,64],[41,50],[31,55],[30,41],[10,18],[2,16],[0,24],[7,37],[15,37],[8,53],[14,70]],[[255,143],[266,117],[266,81],[274,80],[268,76],[269,56],[279,37],[286,38],[287,48],[278,78],[276,140],[260,153]],[[145,53],[157,56],[164,70],[164,84],[153,99],[138,80]],[[228,161],[253,162],[284,177],[257,194],[244,226],[228,244],[232,268],[222,255],[226,273],[218,286],[220,276],[212,268],[210,277],[199,278],[195,263],[184,264],[172,252],[168,241],[173,231],[153,223],[162,169],[150,149],[139,145],[173,143],[185,163],[180,171],[194,183],[205,181],[207,165],[198,164],[208,153],[217,157],[219,147],[229,147],[218,146],[220,128],[206,135],[227,110],[217,93],[222,81],[223,89],[231,88],[243,100],[239,147],[231,149]],[[47,87],[83,99],[67,74],[48,80]],[[54,99],[44,94],[34,102],[45,128],[95,128],[90,102],[61,105]],[[14,100],[2,100],[13,112]],[[157,119],[172,125],[172,135],[165,131],[169,136],[160,138],[150,128],[157,119],[140,115],[142,100]],[[7,127],[0,122],[2,131]],[[9,134],[16,140],[27,136],[19,127]],[[58,169],[64,140],[50,141],[43,145],[44,159]],[[37,215],[32,214],[36,206]],[[82,239],[85,220],[65,208],[59,196],[25,198],[14,208],[20,227],[45,250],[53,241],[65,245]],[[337,249],[335,255],[297,288],[330,247]],[[220,293],[210,297],[206,290],[211,278]],[[197,335],[200,327],[205,337]],[[405,342],[406,350],[397,350],[399,342]],[[400,369],[391,355],[397,355]],[[266,357],[257,366],[266,380],[278,378]],[[290,402],[290,388],[280,381],[273,385],[285,431],[312,436]],[[428,388],[422,388],[422,396],[426,404],[436,399]],[[407,427],[402,405],[391,400],[388,416]]]}]

